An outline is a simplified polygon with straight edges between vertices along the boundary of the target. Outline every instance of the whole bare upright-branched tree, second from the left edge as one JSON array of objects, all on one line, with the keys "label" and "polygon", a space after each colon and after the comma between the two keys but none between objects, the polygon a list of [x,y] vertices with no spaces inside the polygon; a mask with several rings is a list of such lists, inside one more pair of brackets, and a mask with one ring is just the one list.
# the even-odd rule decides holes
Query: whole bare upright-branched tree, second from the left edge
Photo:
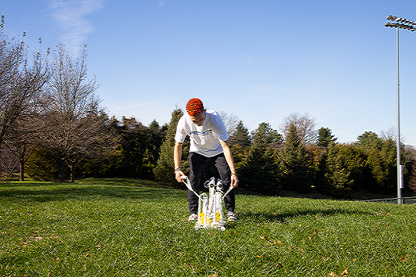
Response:
[{"label": "whole bare upright-branched tree, second from the left edge", "polygon": [[105,116],[95,91],[96,80],[88,80],[87,51],[73,62],[60,45],[53,53],[51,79],[44,103],[46,128],[44,143],[60,159],[60,181],[64,181],[65,163],[71,169],[110,138],[105,132]]}]

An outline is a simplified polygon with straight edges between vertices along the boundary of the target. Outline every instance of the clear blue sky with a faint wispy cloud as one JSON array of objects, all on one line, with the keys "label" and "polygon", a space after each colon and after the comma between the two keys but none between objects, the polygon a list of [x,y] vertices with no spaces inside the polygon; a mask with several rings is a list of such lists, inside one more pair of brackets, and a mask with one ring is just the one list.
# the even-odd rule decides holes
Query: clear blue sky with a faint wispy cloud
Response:
[{"label": "clear blue sky with a faint wispy cloud", "polygon": [[[396,127],[396,30],[416,1],[0,0],[4,33],[31,51],[87,44],[109,116],[168,123],[201,98],[248,129],[309,113],[339,142]],[[399,32],[400,120],[416,145],[416,32]]]}]

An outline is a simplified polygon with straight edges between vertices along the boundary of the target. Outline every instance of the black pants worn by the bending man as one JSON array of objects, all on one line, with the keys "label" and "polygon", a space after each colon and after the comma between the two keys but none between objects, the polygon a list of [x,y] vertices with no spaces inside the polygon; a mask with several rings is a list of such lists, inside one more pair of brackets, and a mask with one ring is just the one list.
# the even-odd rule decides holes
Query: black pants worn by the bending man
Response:
[{"label": "black pants worn by the bending man", "polygon": [[[202,172],[202,166],[204,166],[207,157],[202,156],[201,154],[190,152],[189,153],[189,168],[191,169],[191,174],[189,175],[189,181],[193,190],[199,194],[200,192],[200,177]],[[231,172],[229,171],[229,166],[227,160],[223,153],[218,154],[214,159],[215,166],[218,169],[220,174],[221,182],[223,183],[223,192],[225,193],[229,186],[231,186]],[[198,197],[188,190],[188,203],[189,203],[189,213],[198,214]],[[224,198],[225,208],[227,211],[234,212],[236,206],[236,199],[234,195],[234,190],[231,190]]]}]

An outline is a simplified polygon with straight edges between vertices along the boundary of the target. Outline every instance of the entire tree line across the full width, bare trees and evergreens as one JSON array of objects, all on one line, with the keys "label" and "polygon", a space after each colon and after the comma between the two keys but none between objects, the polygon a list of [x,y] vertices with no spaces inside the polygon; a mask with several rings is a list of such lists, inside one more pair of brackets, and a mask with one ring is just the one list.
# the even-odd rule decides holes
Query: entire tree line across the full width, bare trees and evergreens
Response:
[{"label": "entire tree line across the full width, bare trees and evergreens", "polygon": [[[156,119],[145,126],[135,118],[111,118],[96,96],[96,79],[87,77],[87,50],[78,59],[59,45],[28,54],[23,39],[9,39],[0,26],[0,172],[33,180],[86,177],[156,179],[177,186],[173,145],[177,121]],[[24,37],[23,37],[24,38]],[[31,58],[30,58],[31,57]],[[290,114],[280,131],[260,123],[252,132],[233,114],[220,111],[241,187],[265,194],[279,190],[349,197],[356,190],[390,193],[397,184],[392,132],[365,132],[355,143],[337,143],[327,127],[315,128],[309,114]],[[406,186],[416,188],[413,148],[401,145]],[[185,174],[189,141],[181,162]],[[217,176],[210,161],[202,180]]]}]

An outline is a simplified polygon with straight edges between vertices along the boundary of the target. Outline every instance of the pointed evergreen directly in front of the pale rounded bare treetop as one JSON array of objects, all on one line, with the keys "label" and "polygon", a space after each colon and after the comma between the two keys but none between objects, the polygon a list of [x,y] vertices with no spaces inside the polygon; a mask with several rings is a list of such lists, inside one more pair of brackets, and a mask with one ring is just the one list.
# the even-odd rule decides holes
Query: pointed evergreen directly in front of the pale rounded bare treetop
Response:
[{"label": "pointed evergreen directly in front of the pale rounded bare treetop", "polygon": [[314,170],[293,123],[288,129],[279,159],[284,188],[302,193],[309,192],[314,184]]}]

